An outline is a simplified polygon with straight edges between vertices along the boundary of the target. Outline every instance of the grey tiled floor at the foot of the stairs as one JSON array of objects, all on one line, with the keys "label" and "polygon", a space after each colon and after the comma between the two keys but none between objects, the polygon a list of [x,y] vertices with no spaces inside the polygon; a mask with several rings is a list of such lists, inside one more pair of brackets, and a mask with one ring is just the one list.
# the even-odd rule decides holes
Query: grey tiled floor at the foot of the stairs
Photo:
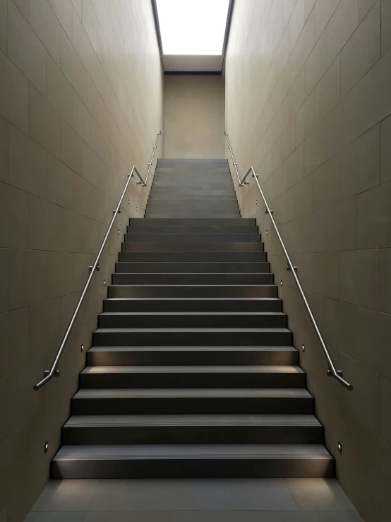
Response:
[{"label": "grey tiled floor at the foot of the stairs", "polygon": [[336,480],[49,482],[25,522],[362,522]]}]

